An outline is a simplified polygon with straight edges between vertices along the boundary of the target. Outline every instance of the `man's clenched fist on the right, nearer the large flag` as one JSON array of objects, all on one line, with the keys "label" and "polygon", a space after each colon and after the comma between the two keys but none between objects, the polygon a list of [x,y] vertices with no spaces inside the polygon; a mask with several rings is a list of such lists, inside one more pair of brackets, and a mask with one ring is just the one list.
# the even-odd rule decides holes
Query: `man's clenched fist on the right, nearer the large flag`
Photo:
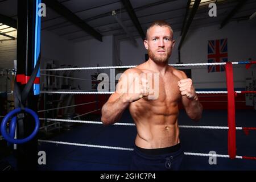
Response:
[{"label": "man's clenched fist on the right, nearer the large flag", "polygon": [[178,86],[182,96],[187,96],[189,100],[197,100],[196,91],[191,78],[181,79],[178,81]]}]

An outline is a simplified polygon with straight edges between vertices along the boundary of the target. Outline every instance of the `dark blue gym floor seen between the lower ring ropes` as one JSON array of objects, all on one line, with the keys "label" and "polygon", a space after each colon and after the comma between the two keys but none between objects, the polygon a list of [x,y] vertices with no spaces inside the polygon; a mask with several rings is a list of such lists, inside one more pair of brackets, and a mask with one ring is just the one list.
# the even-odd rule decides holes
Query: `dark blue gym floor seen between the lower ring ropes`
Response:
[{"label": "dark blue gym floor seen between the lower ring ropes", "polygon": [[[100,121],[96,118],[95,121]],[[125,111],[122,122],[132,122],[129,111]],[[199,122],[193,122],[184,110],[180,111],[179,125],[227,126],[226,110],[204,110]],[[236,125],[256,127],[255,110],[236,110]],[[82,124],[51,140],[133,148],[136,129],[134,126],[103,126]],[[256,132],[245,135],[237,130],[237,155],[255,156]],[[228,130],[180,129],[180,140],[184,152],[228,154]],[[41,170],[129,170],[131,151],[40,143],[39,150],[46,151],[47,164]],[[217,158],[210,165],[208,157],[185,155],[181,170],[256,170],[256,160]]]}]

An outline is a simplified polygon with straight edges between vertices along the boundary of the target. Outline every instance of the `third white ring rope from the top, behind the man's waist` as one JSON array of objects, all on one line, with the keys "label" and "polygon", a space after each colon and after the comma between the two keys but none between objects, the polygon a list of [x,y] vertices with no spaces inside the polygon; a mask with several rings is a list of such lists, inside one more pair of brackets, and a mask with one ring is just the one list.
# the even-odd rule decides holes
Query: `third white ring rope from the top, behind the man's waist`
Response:
[{"label": "third white ring rope from the top, behind the man's waist", "polygon": [[[39,118],[40,120],[48,120],[48,121],[62,121],[62,122],[74,122],[74,123],[90,123],[90,124],[99,124],[102,125],[101,121],[82,121],[82,120],[74,120],[74,119],[53,119],[53,118]],[[119,126],[135,126],[134,123],[114,123],[114,125]],[[228,130],[228,126],[189,126],[189,125],[179,125],[179,127],[189,128],[189,129],[221,129]],[[242,130],[242,127],[236,127],[237,130]]]}]

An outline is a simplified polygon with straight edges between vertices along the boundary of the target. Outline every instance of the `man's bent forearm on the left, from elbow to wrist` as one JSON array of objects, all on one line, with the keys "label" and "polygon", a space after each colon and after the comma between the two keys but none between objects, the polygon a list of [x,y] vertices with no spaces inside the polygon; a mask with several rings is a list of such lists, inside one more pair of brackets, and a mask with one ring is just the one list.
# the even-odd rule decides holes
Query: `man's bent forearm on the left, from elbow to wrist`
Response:
[{"label": "man's bent forearm on the left, from elbow to wrist", "polygon": [[125,97],[125,95],[122,94],[114,102],[107,102],[102,107],[101,121],[104,123],[104,125],[113,124],[121,118],[123,111],[130,104],[130,102],[126,101],[124,97]]}]

